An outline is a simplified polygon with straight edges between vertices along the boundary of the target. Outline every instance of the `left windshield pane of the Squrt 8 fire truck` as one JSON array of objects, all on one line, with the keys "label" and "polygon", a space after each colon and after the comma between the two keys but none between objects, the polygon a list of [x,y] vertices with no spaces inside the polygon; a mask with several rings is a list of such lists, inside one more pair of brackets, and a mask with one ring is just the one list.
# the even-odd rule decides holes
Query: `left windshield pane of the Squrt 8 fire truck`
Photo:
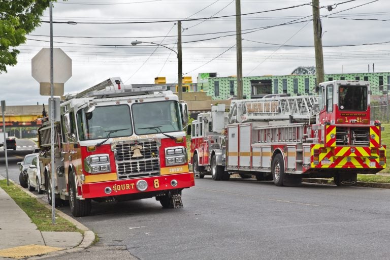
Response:
[{"label": "left windshield pane of the Squrt 8 fire truck", "polygon": [[127,105],[96,107],[92,112],[77,112],[81,141],[133,135],[130,108]]}]

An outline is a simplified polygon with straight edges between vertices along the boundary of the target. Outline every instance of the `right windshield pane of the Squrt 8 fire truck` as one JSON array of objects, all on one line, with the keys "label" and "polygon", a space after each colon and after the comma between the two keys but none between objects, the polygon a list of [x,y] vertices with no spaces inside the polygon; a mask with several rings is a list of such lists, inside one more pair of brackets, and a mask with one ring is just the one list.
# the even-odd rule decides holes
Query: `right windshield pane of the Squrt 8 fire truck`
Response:
[{"label": "right windshield pane of the Squrt 8 fire truck", "polygon": [[177,101],[136,103],[132,111],[137,135],[182,131]]}]

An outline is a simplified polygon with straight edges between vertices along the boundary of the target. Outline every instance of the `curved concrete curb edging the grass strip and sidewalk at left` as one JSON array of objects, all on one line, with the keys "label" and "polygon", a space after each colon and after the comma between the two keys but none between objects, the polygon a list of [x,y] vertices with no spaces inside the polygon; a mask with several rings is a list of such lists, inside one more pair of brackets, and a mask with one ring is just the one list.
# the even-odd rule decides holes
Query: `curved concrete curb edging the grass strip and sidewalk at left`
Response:
[{"label": "curved concrete curb edging the grass strip and sidewalk at left", "polygon": [[[51,211],[51,206],[49,204],[47,204],[47,202],[45,202],[42,199],[40,199],[39,197],[37,197],[36,194],[34,194],[34,193],[24,189],[22,186],[19,185],[19,183],[16,183],[15,181],[13,181],[11,179],[9,179],[9,181],[12,182],[15,186],[18,186],[21,190],[23,190],[29,196],[35,198],[39,203],[41,203],[42,205],[44,205],[47,209],[49,209]],[[76,219],[68,216],[67,214],[65,214],[62,211],[59,211],[57,209],[55,209],[55,214],[57,214],[57,215],[61,216],[62,218],[68,220],[69,222],[74,224],[79,230],[84,232],[84,234],[82,234],[83,239],[81,240],[80,244],[75,246],[75,247],[73,247],[73,248],[70,248],[70,249],[54,251],[54,252],[50,252],[50,253],[47,253],[47,254],[44,254],[44,255],[39,255],[39,256],[30,256],[30,257],[27,257],[25,259],[28,259],[28,260],[44,259],[44,258],[56,256],[56,255],[61,255],[61,254],[81,251],[81,250],[89,247],[93,243],[93,241],[95,240],[95,233],[90,231],[85,225],[83,225],[82,223],[80,223]]]}]

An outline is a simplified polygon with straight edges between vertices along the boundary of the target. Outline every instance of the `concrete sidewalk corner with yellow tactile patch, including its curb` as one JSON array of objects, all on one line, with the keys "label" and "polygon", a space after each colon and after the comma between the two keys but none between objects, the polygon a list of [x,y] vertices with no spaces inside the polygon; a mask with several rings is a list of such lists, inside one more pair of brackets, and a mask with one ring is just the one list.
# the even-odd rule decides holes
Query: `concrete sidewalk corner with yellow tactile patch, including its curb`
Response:
[{"label": "concrete sidewalk corner with yellow tactile patch, including its curb", "polygon": [[[0,179],[4,178],[0,176]],[[36,197],[35,194],[26,192]],[[92,231],[58,210],[56,215],[74,223],[84,234],[39,231],[27,214],[0,188],[0,259],[41,259],[82,250],[91,245],[95,239]]]}]

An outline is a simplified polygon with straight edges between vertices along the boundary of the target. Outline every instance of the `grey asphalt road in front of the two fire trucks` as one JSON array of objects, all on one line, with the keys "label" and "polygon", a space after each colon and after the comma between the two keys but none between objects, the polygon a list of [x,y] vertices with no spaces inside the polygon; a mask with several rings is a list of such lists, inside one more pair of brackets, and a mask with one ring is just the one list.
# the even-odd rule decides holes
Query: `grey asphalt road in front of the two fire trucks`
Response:
[{"label": "grey asphalt road in front of the two fire trucks", "polygon": [[183,190],[183,204],[167,210],[154,199],[93,203],[91,216],[76,219],[100,241],[52,259],[372,260],[390,254],[389,189],[276,187],[206,176]]}]

